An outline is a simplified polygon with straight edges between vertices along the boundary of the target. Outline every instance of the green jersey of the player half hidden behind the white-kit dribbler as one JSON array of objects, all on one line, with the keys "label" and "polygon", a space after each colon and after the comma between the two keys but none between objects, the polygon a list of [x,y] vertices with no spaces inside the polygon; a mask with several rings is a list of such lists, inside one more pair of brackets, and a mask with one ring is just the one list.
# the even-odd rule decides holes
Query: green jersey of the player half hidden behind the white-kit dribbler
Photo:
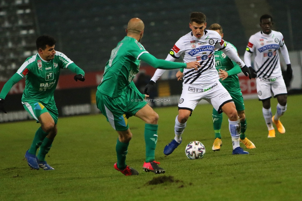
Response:
[{"label": "green jersey of the player half hidden behind the white-kit dribbler", "polygon": [[[226,41],[225,41],[226,42]],[[229,42],[226,42],[227,45],[230,45],[231,48],[234,48],[237,52],[237,49],[234,45]],[[228,73],[228,77],[224,80],[219,79],[220,83],[222,83],[223,87],[226,88],[227,91],[238,91],[241,92],[239,79],[237,74],[241,72],[240,66],[233,62],[230,58],[226,56],[222,51],[215,51],[215,67],[217,71],[218,69],[222,69]]]}]

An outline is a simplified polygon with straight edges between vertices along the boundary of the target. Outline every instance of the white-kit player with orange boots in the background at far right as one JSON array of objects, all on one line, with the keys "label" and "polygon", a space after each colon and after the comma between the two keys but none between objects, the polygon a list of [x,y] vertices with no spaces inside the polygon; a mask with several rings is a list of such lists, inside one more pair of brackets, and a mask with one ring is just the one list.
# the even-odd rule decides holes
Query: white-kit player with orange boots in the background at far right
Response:
[{"label": "white-kit player with orange boots in the background at far right", "polygon": [[[279,49],[287,64],[286,75],[289,80],[292,78],[292,69],[282,33],[272,30],[272,16],[262,15],[260,17],[260,26],[262,31],[255,33],[248,40],[248,46],[244,53],[244,62],[247,66],[252,66],[251,56],[252,54],[254,55],[258,97],[259,101],[262,101],[262,112],[269,130],[268,137],[273,138],[275,137],[273,122],[280,133],[285,133],[285,129],[279,119],[287,107],[287,90],[281,72]],[[278,100],[277,111],[273,117],[270,106],[271,91]]]}]

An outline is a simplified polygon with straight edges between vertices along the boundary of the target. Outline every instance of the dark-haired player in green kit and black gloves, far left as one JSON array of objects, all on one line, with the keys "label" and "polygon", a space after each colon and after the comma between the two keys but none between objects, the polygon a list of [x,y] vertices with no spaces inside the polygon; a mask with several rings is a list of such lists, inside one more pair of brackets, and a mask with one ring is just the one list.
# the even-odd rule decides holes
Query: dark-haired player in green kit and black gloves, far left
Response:
[{"label": "dark-haired player in green kit and black gloves, far left", "polygon": [[[58,84],[61,68],[76,73],[74,79],[84,81],[84,71],[63,53],[55,51],[56,41],[50,36],[40,36],[36,45],[38,53],[27,58],[18,71],[3,86],[0,92],[0,110],[4,109],[4,99],[12,86],[24,76],[25,89],[22,104],[28,113],[41,124],[32,145],[25,153],[28,165],[32,169],[53,170],[45,161],[54,137],[57,135],[58,109],[54,102],[54,90]],[[38,155],[37,149],[40,147]]]}]

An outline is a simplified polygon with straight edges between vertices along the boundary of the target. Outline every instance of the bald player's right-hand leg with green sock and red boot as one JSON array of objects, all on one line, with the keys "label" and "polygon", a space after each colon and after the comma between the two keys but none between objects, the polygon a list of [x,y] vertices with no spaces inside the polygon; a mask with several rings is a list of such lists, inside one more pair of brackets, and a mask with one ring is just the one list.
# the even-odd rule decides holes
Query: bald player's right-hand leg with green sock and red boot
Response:
[{"label": "bald player's right-hand leg with green sock and red boot", "polygon": [[146,143],[146,160],[143,165],[145,172],[154,172],[156,174],[165,173],[165,170],[159,167],[159,162],[155,161],[155,148],[157,143],[157,122],[158,114],[147,104],[140,109],[136,117],[144,120],[145,124],[145,143]]}]

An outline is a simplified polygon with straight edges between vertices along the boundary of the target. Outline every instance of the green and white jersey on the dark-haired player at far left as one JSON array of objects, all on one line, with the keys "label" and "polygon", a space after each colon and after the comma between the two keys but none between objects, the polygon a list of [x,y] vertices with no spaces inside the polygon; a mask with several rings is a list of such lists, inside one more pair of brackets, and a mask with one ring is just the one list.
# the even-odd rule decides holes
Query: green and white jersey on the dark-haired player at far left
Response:
[{"label": "green and white jersey on the dark-haired player at far left", "polygon": [[[67,68],[69,65],[75,64],[58,51],[51,61],[41,59],[38,53],[27,58],[17,71],[17,74],[22,78],[26,76],[22,101],[26,102],[35,99],[44,104],[49,103],[54,98],[54,90],[58,84],[60,69]],[[84,75],[84,72],[82,71],[81,74]]]}]

